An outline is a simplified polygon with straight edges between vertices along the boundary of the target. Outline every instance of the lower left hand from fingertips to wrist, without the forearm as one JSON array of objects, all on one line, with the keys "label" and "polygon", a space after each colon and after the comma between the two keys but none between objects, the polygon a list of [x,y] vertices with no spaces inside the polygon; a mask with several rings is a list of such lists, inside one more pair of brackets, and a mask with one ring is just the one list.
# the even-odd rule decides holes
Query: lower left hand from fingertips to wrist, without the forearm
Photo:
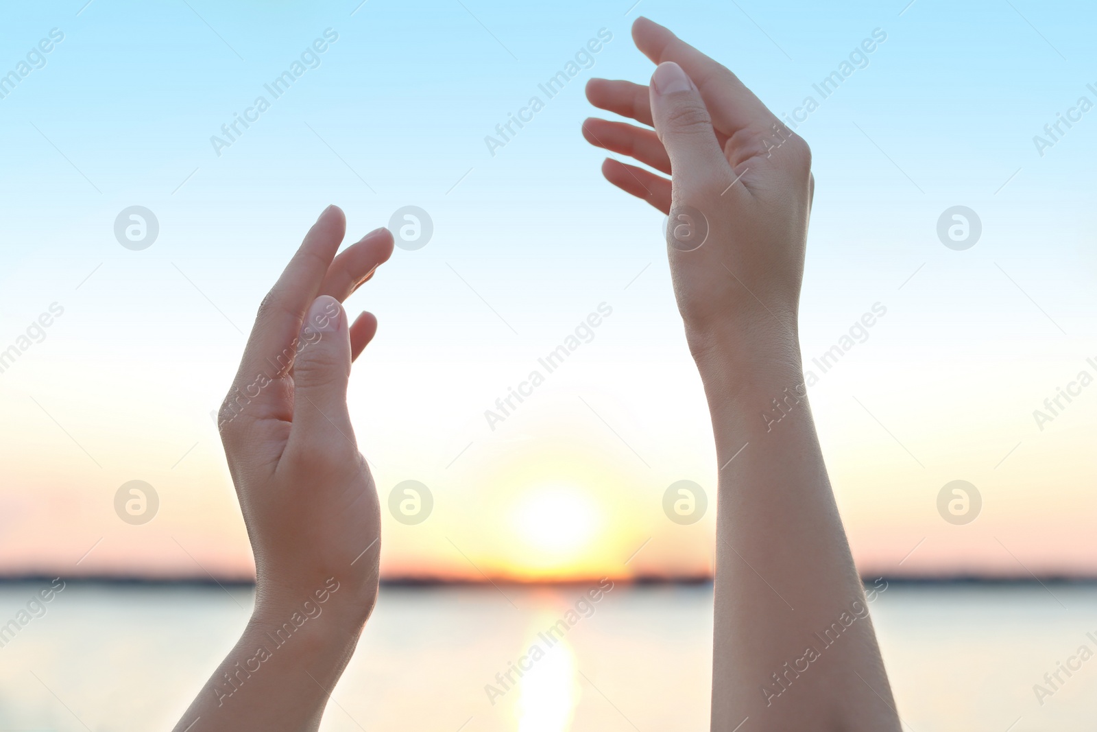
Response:
[{"label": "lower left hand from fingertips to wrist, without the forearm", "polygon": [[364,622],[381,513],[347,383],[377,320],[362,313],[351,325],[339,303],[388,259],[393,236],[377,229],[336,257],[346,228],[338,207],[320,214],[263,300],[218,425],[256,555],[257,609],[293,604],[335,576],[347,619]]}]

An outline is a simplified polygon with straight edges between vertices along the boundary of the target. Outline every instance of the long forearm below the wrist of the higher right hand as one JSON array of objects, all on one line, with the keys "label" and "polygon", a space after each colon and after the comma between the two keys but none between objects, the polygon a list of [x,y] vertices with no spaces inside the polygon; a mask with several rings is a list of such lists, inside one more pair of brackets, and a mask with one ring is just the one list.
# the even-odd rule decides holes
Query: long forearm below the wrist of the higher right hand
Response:
[{"label": "long forearm below the wrist of the higher right hand", "polygon": [[[695,339],[694,339],[695,340]],[[712,729],[897,730],[794,329],[694,349],[720,466]]]}]

